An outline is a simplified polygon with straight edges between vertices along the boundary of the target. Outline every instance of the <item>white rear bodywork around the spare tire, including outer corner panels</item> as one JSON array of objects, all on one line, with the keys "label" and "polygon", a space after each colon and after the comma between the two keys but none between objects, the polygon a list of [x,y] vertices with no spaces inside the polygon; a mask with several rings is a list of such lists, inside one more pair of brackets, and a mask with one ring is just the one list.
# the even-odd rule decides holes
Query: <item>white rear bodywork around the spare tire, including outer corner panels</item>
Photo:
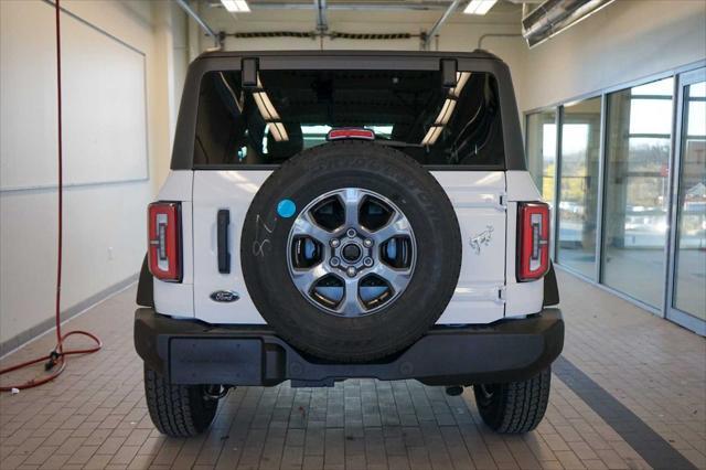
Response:
[{"label": "white rear bodywork around the spare tire, including outer corner panels", "polygon": [[[182,201],[183,282],[154,281],[157,310],[195,317],[208,323],[263,324],[247,292],[239,263],[245,215],[263,182],[261,171],[174,171],[159,199]],[[525,171],[435,171],[456,211],[462,238],[461,271],[456,291],[437,324],[490,323],[542,310],[543,281],[516,282],[516,201],[538,201]],[[193,201],[192,201],[193,191]],[[231,273],[220,274],[216,213],[231,212]],[[430,280],[434,282],[434,280]],[[432,287],[432,286],[431,286]],[[240,299],[213,301],[216,290]]]}]

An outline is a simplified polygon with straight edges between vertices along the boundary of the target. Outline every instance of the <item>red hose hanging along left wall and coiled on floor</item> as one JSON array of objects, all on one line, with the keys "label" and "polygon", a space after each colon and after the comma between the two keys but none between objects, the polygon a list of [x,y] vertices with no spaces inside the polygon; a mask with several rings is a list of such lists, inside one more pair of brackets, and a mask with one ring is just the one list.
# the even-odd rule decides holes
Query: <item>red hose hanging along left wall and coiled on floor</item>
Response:
[{"label": "red hose hanging along left wall and coiled on floor", "polygon": [[[87,331],[69,331],[68,333],[62,335],[62,323],[61,323],[61,300],[62,300],[62,216],[63,216],[63,192],[64,192],[64,177],[62,172],[64,156],[62,152],[62,47],[61,47],[61,24],[60,24],[60,14],[61,8],[58,6],[60,0],[54,0],[54,6],[56,10],[56,95],[57,95],[57,105],[58,105],[58,233],[57,233],[57,257],[56,257],[56,302],[54,308],[54,316],[56,320],[56,346],[54,350],[45,356],[33,359],[31,361],[23,362],[21,364],[12,365],[10,367],[0,368],[0,375],[4,375],[7,373],[24,368],[26,366],[38,364],[40,362],[45,362],[44,368],[46,371],[54,370],[50,375],[45,375],[42,377],[33,378],[23,384],[17,385],[8,385],[0,386],[0,392],[10,392],[13,388],[24,389],[32,388],[39,385],[45,384],[47,382],[53,381],[58,377],[58,375],[64,372],[66,368],[66,356],[73,354],[88,354],[98,351],[103,348],[103,343],[100,339],[95,334],[88,333]],[[86,348],[83,350],[66,350],[64,351],[64,342],[68,337],[73,335],[82,335],[90,338],[96,345],[93,348]]]}]

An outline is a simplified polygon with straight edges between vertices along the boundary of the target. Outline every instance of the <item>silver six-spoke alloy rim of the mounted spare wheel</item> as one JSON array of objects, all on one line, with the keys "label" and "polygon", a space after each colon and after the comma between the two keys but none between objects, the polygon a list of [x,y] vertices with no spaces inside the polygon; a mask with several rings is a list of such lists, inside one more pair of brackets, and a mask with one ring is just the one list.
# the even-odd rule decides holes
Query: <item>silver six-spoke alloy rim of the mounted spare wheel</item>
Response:
[{"label": "silver six-spoke alloy rim of the mounted spare wheel", "polygon": [[417,263],[411,224],[389,199],[343,188],[311,201],[287,239],[292,282],[309,302],[335,317],[378,312],[404,293]]}]

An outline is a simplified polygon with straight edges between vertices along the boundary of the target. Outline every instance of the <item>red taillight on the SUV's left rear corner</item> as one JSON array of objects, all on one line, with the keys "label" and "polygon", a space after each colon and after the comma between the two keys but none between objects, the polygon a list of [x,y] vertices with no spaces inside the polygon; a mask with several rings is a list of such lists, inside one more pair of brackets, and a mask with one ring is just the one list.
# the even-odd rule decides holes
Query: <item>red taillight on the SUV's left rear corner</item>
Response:
[{"label": "red taillight on the SUV's left rear corner", "polygon": [[148,209],[148,259],[158,279],[181,281],[181,206],[154,202]]}]

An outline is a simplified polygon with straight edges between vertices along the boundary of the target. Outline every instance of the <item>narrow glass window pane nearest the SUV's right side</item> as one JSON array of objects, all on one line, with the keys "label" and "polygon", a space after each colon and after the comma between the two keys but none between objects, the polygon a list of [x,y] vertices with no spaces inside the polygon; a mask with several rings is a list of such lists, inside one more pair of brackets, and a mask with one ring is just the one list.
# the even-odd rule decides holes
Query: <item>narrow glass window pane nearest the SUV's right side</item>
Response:
[{"label": "narrow glass window pane nearest the SUV's right side", "polygon": [[527,118],[527,169],[542,199],[554,203],[556,175],[556,111],[535,113]]}]

